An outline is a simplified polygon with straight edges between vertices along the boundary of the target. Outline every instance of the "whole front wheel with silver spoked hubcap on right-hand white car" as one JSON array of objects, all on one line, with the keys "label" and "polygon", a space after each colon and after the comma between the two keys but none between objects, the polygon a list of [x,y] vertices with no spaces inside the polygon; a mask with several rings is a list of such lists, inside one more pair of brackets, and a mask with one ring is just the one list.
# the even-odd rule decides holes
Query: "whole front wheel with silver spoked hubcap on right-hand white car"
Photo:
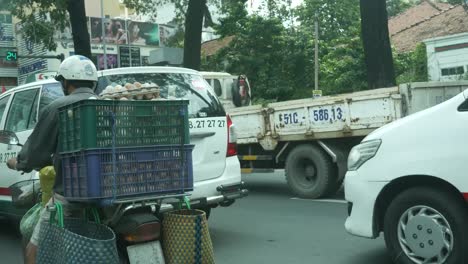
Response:
[{"label": "whole front wheel with silver spoked hubcap on right-hand white car", "polygon": [[467,263],[468,214],[456,196],[412,188],[391,202],[384,219],[385,243],[395,263]]}]

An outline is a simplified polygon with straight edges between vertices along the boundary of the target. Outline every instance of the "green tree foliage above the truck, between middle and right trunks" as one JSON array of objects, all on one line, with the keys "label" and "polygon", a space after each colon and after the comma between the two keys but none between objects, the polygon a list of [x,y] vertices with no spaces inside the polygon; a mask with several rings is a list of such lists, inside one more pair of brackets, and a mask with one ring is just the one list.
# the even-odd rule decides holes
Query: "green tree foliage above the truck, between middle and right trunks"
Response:
[{"label": "green tree foliage above the truck, between middle and right trunks", "polygon": [[207,59],[203,69],[246,74],[256,101],[311,97],[313,25],[319,10],[319,88],[324,94],[366,89],[359,1],[305,0],[294,10],[284,6],[277,1],[277,10],[259,16],[247,15],[243,3],[232,5],[216,29],[235,38],[228,48]]}]

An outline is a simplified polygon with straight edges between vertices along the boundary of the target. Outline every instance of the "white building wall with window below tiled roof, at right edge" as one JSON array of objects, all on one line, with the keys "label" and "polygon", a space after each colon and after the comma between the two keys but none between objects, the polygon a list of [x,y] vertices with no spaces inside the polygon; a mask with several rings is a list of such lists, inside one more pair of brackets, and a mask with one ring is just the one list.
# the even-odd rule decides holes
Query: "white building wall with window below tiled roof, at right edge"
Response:
[{"label": "white building wall with window below tiled roof, at right edge", "polygon": [[430,81],[468,76],[468,33],[425,40]]}]

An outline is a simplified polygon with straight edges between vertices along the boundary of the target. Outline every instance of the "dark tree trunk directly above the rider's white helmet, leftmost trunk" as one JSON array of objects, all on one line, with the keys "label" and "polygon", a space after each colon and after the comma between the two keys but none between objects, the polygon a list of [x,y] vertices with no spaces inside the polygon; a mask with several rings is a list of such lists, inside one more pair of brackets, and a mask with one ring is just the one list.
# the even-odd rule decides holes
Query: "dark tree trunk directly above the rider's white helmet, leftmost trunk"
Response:
[{"label": "dark tree trunk directly above the rider's white helmet, leftmost trunk", "polygon": [[91,40],[88,33],[84,0],[68,0],[67,11],[70,14],[75,54],[91,59]]}]

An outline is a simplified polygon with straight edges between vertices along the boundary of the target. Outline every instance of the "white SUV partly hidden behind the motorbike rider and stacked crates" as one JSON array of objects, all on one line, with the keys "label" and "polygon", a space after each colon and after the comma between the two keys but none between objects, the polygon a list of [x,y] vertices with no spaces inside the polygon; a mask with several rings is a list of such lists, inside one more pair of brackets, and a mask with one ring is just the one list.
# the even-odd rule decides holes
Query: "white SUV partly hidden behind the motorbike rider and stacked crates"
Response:
[{"label": "white SUV partly hidden behind the motorbike rider and stacked crates", "polygon": [[[193,70],[171,67],[134,67],[98,72],[97,93],[110,84],[128,82],[156,83],[163,97],[188,99],[190,143],[194,170],[192,205],[204,209],[229,206],[235,199],[247,195],[241,182],[240,165],[234,143],[234,126],[211,87]],[[0,95],[0,130],[15,132],[24,143],[37,122],[38,113],[54,99],[63,96],[60,84],[54,80],[29,83]],[[20,147],[0,144],[0,214],[21,216],[24,210],[12,206],[12,184],[37,178],[32,172],[22,175],[9,170],[5,162],[16,157]],[[171,206],[164,205],[161,210]]]}]

